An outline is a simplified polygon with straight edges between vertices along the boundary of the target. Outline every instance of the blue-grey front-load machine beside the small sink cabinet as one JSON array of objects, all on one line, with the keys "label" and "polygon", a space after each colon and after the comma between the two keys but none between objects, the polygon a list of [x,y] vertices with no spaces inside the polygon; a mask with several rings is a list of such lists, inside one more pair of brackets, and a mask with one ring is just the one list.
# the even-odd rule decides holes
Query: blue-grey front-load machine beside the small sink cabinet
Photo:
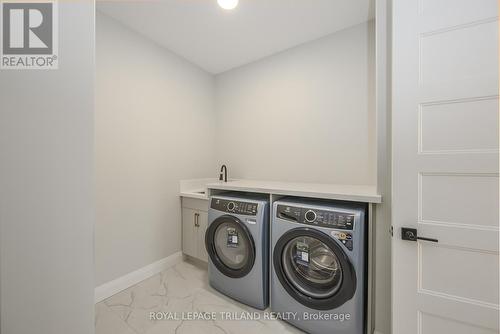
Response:
[{"label": "blue-grey front-load machine beside the small sink cabinet", "polygon": [[269,196],[212,196],[205,246],[210,286],[249,306],[269,305]]}]

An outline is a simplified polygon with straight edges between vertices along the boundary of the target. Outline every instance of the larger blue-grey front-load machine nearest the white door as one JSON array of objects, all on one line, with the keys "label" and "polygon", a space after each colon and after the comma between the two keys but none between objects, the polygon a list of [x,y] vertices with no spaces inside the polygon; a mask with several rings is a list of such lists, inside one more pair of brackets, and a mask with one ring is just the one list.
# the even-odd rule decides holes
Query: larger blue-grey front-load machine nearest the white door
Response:
[{"label": "larger blue-grey front-load machine nearest the white door", "polygon": [[363,334],[367,206],[283,199],[271,226],[271,309],[309,333]]}]

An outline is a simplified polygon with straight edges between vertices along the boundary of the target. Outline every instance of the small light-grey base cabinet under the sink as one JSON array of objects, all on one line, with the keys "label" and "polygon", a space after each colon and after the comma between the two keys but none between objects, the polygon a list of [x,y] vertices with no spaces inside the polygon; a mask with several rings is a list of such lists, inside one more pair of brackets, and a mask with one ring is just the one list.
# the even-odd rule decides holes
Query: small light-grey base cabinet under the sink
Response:
[{"label": "small light-grey base cabinet under the sink", "polygon": [[208,225],[208,200],[182,198],[182,252],[208,261],[205,232]]}]

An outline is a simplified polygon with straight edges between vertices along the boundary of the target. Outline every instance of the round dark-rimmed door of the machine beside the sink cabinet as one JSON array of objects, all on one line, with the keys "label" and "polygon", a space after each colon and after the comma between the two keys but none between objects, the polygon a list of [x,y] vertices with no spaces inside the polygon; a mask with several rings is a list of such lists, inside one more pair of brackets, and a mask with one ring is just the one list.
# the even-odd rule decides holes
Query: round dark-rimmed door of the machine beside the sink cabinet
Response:
[{"label": "round dark-rimmed door of the machine beside the sink cabinet", "polygon": [[255,245],[238,218],[224,215],[214,220],[205,234],[205,244],[212,263],[226,276],[239,278],[252,270]]}]

